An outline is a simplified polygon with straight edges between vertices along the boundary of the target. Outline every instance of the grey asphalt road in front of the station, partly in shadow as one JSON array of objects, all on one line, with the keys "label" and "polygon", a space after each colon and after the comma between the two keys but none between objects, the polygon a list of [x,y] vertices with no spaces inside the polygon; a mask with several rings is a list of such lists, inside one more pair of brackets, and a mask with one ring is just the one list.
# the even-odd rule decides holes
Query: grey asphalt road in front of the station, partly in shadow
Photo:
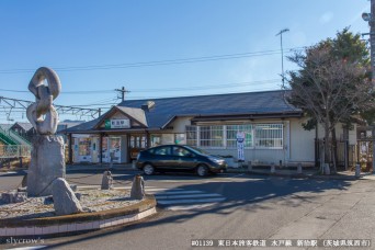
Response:
[{"label": "grey asphalt road in front of the station, partly in shadow", "polygon": [[[135,173],[121,172],[115,174],[115,180],[122,183]],[[88,173],[68,174],[68,178]],[[18,177],[9,178],[16,180]],[[2,179],[0,177],[0,186]],[[99,180],[99,177],[86,178],[86,182],[91,184]],[[319,239],[326,240],[325,242],[336,242],[329,239],[345,239],[345,243],[353,243],[357,242],[354,241],[356,239],[371,239],[375,243],[374,181],[239,174],[200,179],[194,175],[170,174],[146,178],[146,186],[154,189],[160,196],[189,191],[190,194],[217,194],[217,197],[224,200],[190,209],[166,209],[168,207],[160,206],[156,216],[141,224],[80,236],[46,238],[43,243],[57,249],[191,249],[191,240],[203,239],[214,239],[214,243],[227,242],[218,240],[239,240],[238,242],[246,243],[263,239],[270,240],[268,243],[271,240],[285,242],[288,239]],[[212,197],[215,196],[183,200]],[[160,198],[162,200],[169,201],[168,197]],[[173,204],[181,207],[184,205],[192,204]]]}]

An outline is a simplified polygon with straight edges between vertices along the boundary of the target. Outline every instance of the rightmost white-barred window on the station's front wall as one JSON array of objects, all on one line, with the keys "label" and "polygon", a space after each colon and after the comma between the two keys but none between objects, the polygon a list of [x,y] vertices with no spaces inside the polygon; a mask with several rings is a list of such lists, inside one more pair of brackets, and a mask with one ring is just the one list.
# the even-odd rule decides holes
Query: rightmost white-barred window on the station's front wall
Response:
[{"label": "rightmost white-barred window on the station's front wall", "polygon": [[255,146],[260,148],[282,148],[283,124],[257,124]]}]

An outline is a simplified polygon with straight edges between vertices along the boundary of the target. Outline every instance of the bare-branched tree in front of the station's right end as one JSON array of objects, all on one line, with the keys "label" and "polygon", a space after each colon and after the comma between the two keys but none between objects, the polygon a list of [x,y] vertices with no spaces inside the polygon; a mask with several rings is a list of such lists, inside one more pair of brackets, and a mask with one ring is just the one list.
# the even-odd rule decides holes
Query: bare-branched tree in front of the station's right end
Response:
[{"label": "bare-branched tree in front of the station's right end", "polygon": [[[327,145],[334,126],[374,106],[366,68],[336,54],[330,43],[322,42],[288,57],[300,68],[288,71],[289,100],[322,125],[326,161],[331,152],[331,146]],[[336,162],[333,171],[337,171]]]}]

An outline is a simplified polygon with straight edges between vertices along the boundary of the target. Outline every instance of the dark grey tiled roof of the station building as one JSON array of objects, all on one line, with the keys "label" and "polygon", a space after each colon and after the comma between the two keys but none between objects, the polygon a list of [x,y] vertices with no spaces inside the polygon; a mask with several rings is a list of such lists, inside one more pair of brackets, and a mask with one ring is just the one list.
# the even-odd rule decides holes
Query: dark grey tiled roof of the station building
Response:
[{"label": "dark grey tiled roof of the station building", "polygon": [[[215,116],[302,113],[286,103],[284,91],[247,92],[184,98],[126,100],[118,107],[139,109],[154,101],[155,105],[145,112],[149,128],[161,128],[175,116]],[[93,121],[72,127],[69,130],[90,129]],[[91,127],[90,127],[91,126]],[[78,129],[78,130],[77,130]]]}]

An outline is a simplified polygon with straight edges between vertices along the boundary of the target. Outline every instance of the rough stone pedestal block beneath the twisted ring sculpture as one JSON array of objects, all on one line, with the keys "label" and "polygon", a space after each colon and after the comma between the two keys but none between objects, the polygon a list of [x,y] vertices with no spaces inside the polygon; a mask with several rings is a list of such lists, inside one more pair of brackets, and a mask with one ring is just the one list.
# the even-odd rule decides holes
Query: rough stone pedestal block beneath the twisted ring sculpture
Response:
[{"label": "rough stone pedestal block beneath the twisted ring sculpture", "polygon": [[27,195],[52,194],[52,182],[65,178],[65,146],[61,136],[38,135],[33,141],[27,172]]}]

